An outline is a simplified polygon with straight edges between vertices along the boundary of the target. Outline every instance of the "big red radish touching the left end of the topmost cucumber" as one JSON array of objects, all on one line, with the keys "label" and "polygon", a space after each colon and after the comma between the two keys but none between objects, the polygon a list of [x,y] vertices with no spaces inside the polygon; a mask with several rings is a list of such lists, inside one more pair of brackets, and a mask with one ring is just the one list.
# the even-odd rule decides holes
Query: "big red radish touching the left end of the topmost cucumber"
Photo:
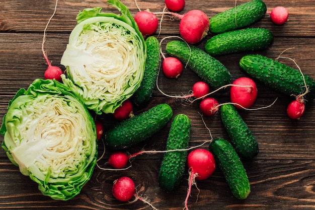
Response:
[{"label": "big red radish touching the left end of the topmost cucumber", "polygon": [[191,10],[183,15],[179,24],[182,38],[190,44],[196,44],[208,34],[209,18],[200,10]]}]

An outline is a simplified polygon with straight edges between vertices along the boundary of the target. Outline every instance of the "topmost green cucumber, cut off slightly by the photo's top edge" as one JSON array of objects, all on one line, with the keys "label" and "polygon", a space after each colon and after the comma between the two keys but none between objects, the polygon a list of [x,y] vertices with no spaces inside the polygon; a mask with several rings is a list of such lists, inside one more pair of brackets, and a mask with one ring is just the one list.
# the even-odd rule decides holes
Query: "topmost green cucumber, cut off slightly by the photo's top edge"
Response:
[{"label": "topmost green cucumber, cut off slightly by the photo's top edge", "polygon": [[209,31],[219,34],[244,28],[260,20],[266,12],[267,7],[263,1],[252,0],[210,18]]}]

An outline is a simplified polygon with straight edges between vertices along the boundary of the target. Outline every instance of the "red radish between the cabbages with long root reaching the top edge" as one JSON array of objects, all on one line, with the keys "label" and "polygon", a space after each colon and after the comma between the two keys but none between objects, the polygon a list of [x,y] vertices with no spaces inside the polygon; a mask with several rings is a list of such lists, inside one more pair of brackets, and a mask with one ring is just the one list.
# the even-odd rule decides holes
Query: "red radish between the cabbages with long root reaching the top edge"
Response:
[{"label": "red radish between the cabbages with long root reaching the top edge", "polygon": [[43,52],[44,58],[46,60],[46,63],[48,65],[48,68],[46,69],[46,71],[44,73],[45,80],[48,80],[48,79],[53,80],[53,79],[55,79],[56,81],[61,82],[61,75],[63,74],[61,69],[58,66],[51,65],[51,63],[49,62],[49,60],[47,58],[46,52],[44,50],[44,43],[45,43],[45,39],[46,39],[46,30],[48,28],[48,25],[49,25],[51,19],[53,18],[53,16],[56,13],[57,4],[58,4],[58,0],[56,0],[55,10],[54,10],[52,16],[50,17],[50,19],[48,20],[48,23],[47,23],[47,25],[45,27],[45,30],[44,30],[44,38],[43,38],[43,42],[42,42],[42,52]]}]

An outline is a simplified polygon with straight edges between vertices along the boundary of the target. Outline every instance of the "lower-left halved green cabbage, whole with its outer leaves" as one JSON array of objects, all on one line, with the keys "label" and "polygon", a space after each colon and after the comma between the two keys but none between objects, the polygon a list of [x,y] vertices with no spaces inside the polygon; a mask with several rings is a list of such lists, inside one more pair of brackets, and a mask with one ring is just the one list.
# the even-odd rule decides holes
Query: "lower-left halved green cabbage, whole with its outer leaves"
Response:
[{"label": "lower-left halved green cabbage, whole with its outer leaves", "polygon": [[10,161],[42,194],[68,200],[90,180],[97,160],[94,119],[71,89],[37,79],[9,102],[0,133]]}]

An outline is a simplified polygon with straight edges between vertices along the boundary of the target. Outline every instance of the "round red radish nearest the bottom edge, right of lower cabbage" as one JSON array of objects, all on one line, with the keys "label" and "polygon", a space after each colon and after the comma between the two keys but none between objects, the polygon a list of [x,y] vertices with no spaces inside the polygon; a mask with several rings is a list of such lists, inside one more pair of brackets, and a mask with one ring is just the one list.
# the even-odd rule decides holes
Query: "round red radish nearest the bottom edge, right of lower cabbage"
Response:
[{"label": "round red radish nearest the bottom edge, right of lower cabbage", "polygon": [[127,176],[114,181],[112,193],[117,200],[128,201],[135,195],[135,186],[132,179]]}]

